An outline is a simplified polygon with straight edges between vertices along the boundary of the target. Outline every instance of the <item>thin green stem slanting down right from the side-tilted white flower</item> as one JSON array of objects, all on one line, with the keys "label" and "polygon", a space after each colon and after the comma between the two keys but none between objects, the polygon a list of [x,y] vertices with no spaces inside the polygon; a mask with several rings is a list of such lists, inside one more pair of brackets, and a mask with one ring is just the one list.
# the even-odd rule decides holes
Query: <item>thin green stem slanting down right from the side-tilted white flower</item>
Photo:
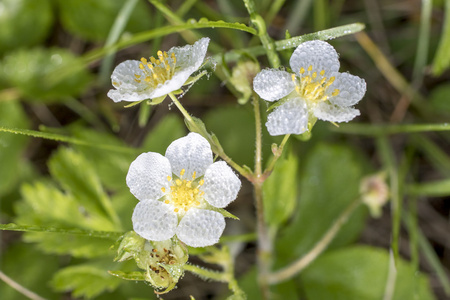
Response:
[{"label": "thin green stem slanting down right from the side-tilted white flower", "polygon": [[[208,140],[208,142],[211,145],[212,150],[214,153],[220,156],[224,161],[227,162],[231,167],[233,167],[239,174],[247,178],[249,181],[251,180],[250,174],[247,170],[245,170],[243,167],[235,163],[226,153],[223,151],[222,146],[220,143],[211,137],[211,135],[206,131],[206,128],[204,127],[203,123],[200,123],[201,121],[194,120],[194,118],[187,112],[187,110],[183,107],[183,105],[178,101],[177,97],[173,93],[168,94],[170,99],[172,99],[175,106],[178,108],[178,110],[181,112],[181,114],[185,118],[185,122],[188,125],[189,129],[193,132],[197,132],[201,134],[204,138]],[[201,124],[201,125],[200,125]]]}]

